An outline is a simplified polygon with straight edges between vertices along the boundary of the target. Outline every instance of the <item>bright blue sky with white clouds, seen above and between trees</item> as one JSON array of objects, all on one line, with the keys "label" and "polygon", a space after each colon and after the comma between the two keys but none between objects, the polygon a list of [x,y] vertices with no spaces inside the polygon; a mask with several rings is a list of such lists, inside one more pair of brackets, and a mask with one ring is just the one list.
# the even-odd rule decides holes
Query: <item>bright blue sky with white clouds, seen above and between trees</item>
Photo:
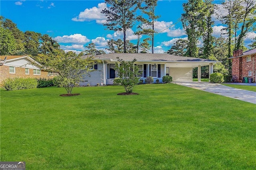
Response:
[{"label": "bright blue sky with white clouds, seen above and between trees", "polygon": [[[158,1],[156,14],[161,17],[155,24],[155,30],[160,32],[176,23],[184,13],[182,4],[186,2]],[[214,3],[220,4],[220,1]],[[16,23],[23,32],[28,30],[48,34],[58,40],[62,49],[66,51],[85,50],[85,46],[91,42],[96,44],[97,49],[106,51],[108,40],[123,39],[122,32],[106,30],[102,25],[106,18],[100,11],[106,7],[103,0],[1,0],[0,14]],[[220,37],[222,28],[224,26],[216,21],[213,35]],[[127,38],[133,43],[136,43],[137,39],[133,35],[135,31],[136,25],[127,32]],[[250,32],[245,39],[246,45],[250,44],[255,36],[255,32]],[[186,37],[182,23],[178,22],[155,36],[154,51],[163,53],[170,49],[178,38]],[[198,44],[201,45],[201,42]]]}]

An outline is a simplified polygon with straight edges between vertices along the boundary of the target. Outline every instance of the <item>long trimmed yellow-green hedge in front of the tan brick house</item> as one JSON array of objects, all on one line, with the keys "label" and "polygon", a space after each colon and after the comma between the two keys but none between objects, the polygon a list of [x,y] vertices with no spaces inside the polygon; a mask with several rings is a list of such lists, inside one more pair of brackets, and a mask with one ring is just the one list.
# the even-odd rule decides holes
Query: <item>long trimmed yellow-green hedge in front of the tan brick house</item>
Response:
[{"label": "long trimmed yellow-green hedge in front of the tan brick house", "polygon": [[4,80],[3,88],[7,91],[34,89],[38,85],[37,79],[33,78],[8,78]]}]

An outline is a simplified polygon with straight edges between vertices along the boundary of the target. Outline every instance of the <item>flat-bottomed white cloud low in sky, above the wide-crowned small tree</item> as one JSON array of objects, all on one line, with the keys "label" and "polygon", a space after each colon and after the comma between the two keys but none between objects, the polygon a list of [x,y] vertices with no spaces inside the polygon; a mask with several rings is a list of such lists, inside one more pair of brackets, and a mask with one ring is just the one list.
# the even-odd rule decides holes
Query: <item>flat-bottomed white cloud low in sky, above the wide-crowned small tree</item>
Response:
[{"label": "flat-bottomed white cloud low in sky, above the wide-crowned small tree", "polygon": [[90,40],[82,34],[73,34],[70,36],[57,36],[55,38],[59,43],[88,43]]}]

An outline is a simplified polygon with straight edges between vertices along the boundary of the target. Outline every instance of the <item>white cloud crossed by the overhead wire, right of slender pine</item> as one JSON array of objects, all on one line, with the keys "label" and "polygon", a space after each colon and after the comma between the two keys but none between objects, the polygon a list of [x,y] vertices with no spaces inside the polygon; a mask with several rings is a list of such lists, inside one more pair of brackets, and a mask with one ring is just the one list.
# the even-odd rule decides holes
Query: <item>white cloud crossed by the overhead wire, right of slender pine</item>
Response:
[{"label": "white cloud crossed by the overhead wire, right of slender pine", "polygon": [[180,37],[186,35],[183,29],[176,29],[174,26],[171,26],[172,24],[173,22],[156,21],[154,29],[156,32],[162,31],[161,33],[167,33],[168,37]]}]

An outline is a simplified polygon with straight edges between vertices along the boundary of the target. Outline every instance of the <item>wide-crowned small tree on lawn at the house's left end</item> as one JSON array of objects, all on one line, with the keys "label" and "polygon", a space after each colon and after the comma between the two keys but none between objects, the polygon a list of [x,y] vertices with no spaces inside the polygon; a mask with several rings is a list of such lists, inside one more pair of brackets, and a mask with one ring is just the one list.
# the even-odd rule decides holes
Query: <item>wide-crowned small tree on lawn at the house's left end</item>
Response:
[{"label": "wide-crowned small tree on lawn at the house's left end", "polygon": [[[43,56],[41,56],[43,57]],[[83,81],[83,75],[87,75],[92,67],[92,57],[82,59],[80,55],[69,51],[58,51],[57,55],[48,55],[46,62],[46,70],[57,74],[55,83],[59,87],[64,87],[71,94],[72,89]]]}]

